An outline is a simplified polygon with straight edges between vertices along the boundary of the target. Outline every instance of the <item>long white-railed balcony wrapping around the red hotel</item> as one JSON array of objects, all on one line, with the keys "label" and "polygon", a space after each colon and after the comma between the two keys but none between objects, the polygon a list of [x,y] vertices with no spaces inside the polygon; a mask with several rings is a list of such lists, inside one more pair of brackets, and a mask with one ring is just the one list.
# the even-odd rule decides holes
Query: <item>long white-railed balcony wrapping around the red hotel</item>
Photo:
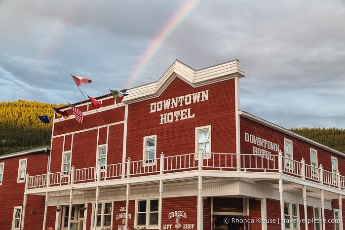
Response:
[{"label": "long white-railed balcony wrapping around the red hotel", "polygon": [[[199,160],[201,159],[201,160]],[[201,162],[201,163],[200,163]],[[75,169],[67,172],[48,172],[47,174],[27,175],[26,191],[65,185],[77,185],[98,182],[126,184],[129,179],[137,178],[147,181],[149,177],[170,175],[170,178],[181,178],[186,175],[202,173],[212,177],[244,177],[262,181],[285,178],[298,179],[298,183],[322,185],[325,188],[342,190],[345,192],[345,177],[339,172],[332,173],[323,166],[312,167],[305,164],[305,160],[296,161],[278,155],[263,154],[235,154],[235,153],[189,153],[175,156],[164,156],[148,160],[125,163],[98,165],[95,167]],[[272,177],[273,176],[273,177]],[[290,180],[293,181],[293,180]],[[295,182],[296,183],[296,182]],[[103,183],[104,184],[104,183]],[[56,188],[58,190],[58,188]]]}]

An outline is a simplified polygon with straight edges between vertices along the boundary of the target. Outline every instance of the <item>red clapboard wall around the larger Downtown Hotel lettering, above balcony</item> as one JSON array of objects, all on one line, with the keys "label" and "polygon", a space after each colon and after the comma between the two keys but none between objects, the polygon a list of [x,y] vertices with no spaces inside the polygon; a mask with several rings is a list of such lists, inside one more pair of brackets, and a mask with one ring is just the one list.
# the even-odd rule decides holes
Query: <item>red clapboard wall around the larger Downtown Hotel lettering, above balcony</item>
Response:
[{"label": "red clapboard wall around the larger Downtown Hotel lettering, above balcony", "polygon": [[[158,101],[209,90],[209,99],[150,113],[150,104]],[[143,137],[157,135],[157,154],[165,156],[195,153],[195,127],[212,126],[212,152],[235,153],[234,80],[193,88],[175,78],[164,92],[146,103],[134,103],[128,108],[127,156],[143,159]],[[179,92],[178,94],[176,92]],[[219,103],[222,107],[219,107]],[[191,109],[193,118],[160,123],[160,114]],[[212,116],[210,116],[212,113]],[[143,122],[145,121],[145,122]]]}]

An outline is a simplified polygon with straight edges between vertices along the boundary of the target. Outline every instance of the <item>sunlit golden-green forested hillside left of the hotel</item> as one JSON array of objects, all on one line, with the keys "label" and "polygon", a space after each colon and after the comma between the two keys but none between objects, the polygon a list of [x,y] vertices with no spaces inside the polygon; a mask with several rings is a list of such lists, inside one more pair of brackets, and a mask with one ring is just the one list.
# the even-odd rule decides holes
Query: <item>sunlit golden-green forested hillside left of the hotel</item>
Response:
[{"label": "sunlit golden-green forested hillside left of the hotel", "polygon": [[52,123],[42,123],[36,113],[47,115],[52,122],[52,106],[62,105],[24,100],[1,102],[0,155],[49,146]]}]

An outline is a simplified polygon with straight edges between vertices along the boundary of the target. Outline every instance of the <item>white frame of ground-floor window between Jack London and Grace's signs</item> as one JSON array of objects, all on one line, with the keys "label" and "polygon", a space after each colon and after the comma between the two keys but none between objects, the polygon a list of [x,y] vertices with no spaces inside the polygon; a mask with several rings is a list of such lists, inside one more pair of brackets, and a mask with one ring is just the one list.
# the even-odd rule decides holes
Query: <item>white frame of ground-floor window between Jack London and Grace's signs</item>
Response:
[{"label": "white frame of ground-floor window between Jack London and Grace's signs", "polygon": [[[139,202],[140,201],[146,201],[146,210],[145,212],[141,211],[139,212]],[[151,205],[151,201],[156,201],[157,202],[157,207],[156,210],[152,210],[152,205]],[[158,198],[147,198],[147,199],[137,199],[136,201],[136,207],[135,207],[135,224],[136,226],[140,226],[140,227],[158,227],[158,219],[159,219],[159,199]],[[143,214],[145,213],[145,225],[139,225],[138,221],[139,221],[139,214]],[[152,218],[156,216],[156,224],[151,224]]]}]

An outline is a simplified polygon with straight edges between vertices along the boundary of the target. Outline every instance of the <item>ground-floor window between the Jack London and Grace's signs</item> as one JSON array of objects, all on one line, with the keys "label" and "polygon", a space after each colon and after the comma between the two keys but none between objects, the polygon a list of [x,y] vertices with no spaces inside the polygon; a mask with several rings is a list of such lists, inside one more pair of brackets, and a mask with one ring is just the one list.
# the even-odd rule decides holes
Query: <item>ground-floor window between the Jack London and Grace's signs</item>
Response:
[{"label": "ground-floor window between the Jack London and Grace's signs", "polygon": [[158,225],[158,199],[138,200],[137,225]]}]

